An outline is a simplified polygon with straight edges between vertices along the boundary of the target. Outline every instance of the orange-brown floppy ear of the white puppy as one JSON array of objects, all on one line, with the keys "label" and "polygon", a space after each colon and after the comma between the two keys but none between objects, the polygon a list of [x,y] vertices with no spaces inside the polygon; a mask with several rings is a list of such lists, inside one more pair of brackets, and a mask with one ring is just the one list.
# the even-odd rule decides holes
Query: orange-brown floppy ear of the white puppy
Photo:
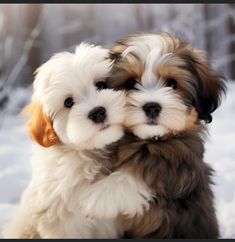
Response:
[{"label": "orange-brown floppy ear of the white puppy", "polygon": [[37,143],[44,147],[50,147],[59,141],[52,127],[52,121],[43,113],[41,104],[32,102],[24,108],[22,114],[30,115],[28,121],[29,134]]}]

